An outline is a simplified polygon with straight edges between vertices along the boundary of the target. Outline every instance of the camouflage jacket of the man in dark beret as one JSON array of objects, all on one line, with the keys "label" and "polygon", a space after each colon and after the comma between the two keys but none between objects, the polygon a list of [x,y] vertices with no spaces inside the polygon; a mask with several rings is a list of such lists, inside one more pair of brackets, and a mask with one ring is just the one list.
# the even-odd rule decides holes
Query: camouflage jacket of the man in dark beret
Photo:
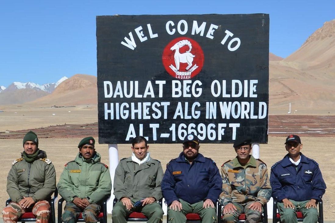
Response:
[{"label": "camouflage jacket of the man in dark beret", "polygon": [[264,162],[250,156],[249,162],[242,166],[237,157],[221,166],[222,193],[220,203],[246,203],[258,201],[265,204],[271,197],[268,169]]}]

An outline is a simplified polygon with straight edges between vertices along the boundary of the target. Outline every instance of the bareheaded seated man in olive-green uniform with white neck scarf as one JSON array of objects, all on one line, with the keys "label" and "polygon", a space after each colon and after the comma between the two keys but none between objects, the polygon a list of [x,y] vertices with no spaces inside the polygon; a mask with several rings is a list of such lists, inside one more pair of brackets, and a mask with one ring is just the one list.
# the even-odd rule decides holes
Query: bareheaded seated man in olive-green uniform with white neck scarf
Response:
[{"label": "bareheaded seated man in olive-green uniform with white neck scarf", "polygon": [[148,223],[161,222],[164,213],[156,201],[162,198],[162,166],[150,157],[143,136],[133,139],[131,149],[132,156],[121,159],[115,170],[114,195],[119,201],[113,207],[113,223],[126,223],[134,211],[143,213]]}]

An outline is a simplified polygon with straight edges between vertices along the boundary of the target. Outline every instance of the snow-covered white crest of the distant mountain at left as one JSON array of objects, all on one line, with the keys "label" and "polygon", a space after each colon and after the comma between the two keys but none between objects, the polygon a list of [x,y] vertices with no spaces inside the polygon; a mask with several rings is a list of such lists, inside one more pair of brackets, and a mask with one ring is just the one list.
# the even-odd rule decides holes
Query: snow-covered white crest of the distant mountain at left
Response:
[{"label": "snow-covered white crest of the distant mountain at left", "polygon": [[27,82],[27,83],[13,82],[11,85],[9,85],[7,88],[3,89],[0,92],[4,93],[4,92],[15,91],[19,89],[33,89],[35,91],[45,91],[45,92],[51,93],[55,90],[55,88],[60,83],[62,83],[66,79],[67,77],[62,77],[56,83],[47,83],[44,85],[39,85],[39,84],[31,83],[31,82]]}]

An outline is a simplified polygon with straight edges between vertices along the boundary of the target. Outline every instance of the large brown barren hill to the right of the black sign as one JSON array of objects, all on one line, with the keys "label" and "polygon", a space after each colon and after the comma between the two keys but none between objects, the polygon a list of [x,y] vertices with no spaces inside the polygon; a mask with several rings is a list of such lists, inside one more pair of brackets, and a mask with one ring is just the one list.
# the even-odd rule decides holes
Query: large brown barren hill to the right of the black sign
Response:
[{"label": "large brown barren hill to the right of the black sign", "polygon": [[[335,114],[335,20],[325,22],[289,57],[271,61],[269,114]],[[301,113],[299,113],[301,112]]]}]

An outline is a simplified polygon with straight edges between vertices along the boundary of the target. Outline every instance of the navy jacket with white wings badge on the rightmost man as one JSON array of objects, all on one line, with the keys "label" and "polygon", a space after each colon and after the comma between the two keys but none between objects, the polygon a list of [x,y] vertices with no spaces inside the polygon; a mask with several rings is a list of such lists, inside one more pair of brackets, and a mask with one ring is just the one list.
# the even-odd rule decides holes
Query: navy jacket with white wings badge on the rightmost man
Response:
[{"label": "navy jacket with white wings badge on the rightmost man", "polygon": [[326,184],[322,178],[319,164],[300,153],[300,163],[296,166],[287,154],[271,167],[270,183],[272,197],[278,201],[320,200],[325,193]]}]

